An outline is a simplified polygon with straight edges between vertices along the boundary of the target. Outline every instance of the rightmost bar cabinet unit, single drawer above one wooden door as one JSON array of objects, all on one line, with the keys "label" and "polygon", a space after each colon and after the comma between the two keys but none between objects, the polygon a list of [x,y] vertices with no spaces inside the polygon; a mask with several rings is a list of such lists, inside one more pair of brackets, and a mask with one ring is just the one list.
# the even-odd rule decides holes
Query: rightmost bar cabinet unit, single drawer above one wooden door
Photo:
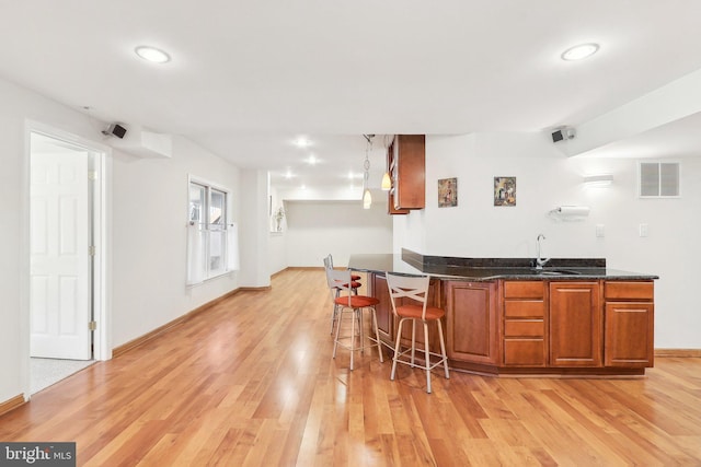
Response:
[{"label": "rightmost bar cabinet unit, single drawer above one wooden door", "polygon": [[604,299],[605,366],[653,366],[653,282],[607,281]]}]

